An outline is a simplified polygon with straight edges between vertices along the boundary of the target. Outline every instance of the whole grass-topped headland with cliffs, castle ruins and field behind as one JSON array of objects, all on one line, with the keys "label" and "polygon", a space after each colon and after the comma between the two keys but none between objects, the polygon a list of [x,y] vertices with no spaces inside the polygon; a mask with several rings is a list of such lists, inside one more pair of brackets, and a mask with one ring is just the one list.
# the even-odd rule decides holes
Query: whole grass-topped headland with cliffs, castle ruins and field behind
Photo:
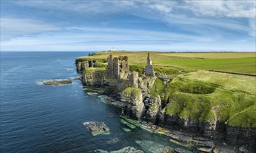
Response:
[{"label": "whole grass-topped headland with cliffs, castle ruins and field behind", "polygon": [[[239,53],[229,56],[234,54]],[[104,90],[108,104],[120,107],[127,118],[186,131],[190,138],[203,136],[220,148],[246,144],[246,150],[255,150],[255,74],[216,65],[191,67],[187,63],[208,59],[200,53],[205,61],[186,56],[101,51],[77,58],[76,66],[83,84]]]}]

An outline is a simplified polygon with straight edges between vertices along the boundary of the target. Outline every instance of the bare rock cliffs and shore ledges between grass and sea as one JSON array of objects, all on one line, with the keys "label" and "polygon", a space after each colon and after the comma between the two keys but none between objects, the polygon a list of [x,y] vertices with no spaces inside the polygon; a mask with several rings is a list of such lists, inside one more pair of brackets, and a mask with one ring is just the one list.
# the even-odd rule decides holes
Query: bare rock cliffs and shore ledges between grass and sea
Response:
[{"label": "bare rock cliffs and shore ledges between grass and sea", "polygon": [[[112,56],[108,58],[108,61],[110,59]],[[118,58],[115,59],[118,62]],[[117,64],[121,67],[123,63],[122,58],[120,59],[121,61]],[[148,58],[148,64],[151,64],[149,60],[150,58]],[[145,76],[145,74],[138,76],[138,72],[120,70],[122,73],[118,74],[118,77],[113,77],[110,75],[110,72],[112,74],[114,71],[112,67],[106,70],[94,68],[97,66],[91,65],[93,68],[90,69],[90,61],[76,64],[78,71],[83,70],[83,85],[91,88],[87,91],[99,92],[103,95],[101,98],[106,104],[119,107],[122,115],[126,117],[122,119],[126,122],[129,119],[130,124],[141,124],[137,126],[150,132],[169,136],[173,143],[197,147],[198,150],[204,152],[256,151],[256,129],[229,127],[219,120],[193,122],[190,118],[167,115],[164,109],[166,102],[161,95],[153,97],[150,95],[150,91],[155,90],[153,86],[157,79],[153,73],[151,73],[152,76]]]}]

